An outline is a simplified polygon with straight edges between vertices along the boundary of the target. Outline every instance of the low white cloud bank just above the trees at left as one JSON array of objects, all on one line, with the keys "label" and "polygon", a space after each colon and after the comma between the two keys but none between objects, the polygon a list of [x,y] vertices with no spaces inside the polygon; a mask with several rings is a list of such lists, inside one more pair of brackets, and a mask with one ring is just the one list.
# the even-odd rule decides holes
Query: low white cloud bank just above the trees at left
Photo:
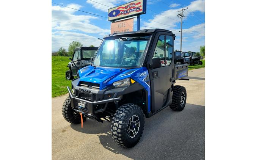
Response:
[{"label": "low white cloud bank just above the trees at left", "polygon": [[79,41],[83,44],[83,46],[89,46],[92,44],[95,47],[99,47],[101,44],[101,40],[83,33],[55,31],[52,32],[52,51],[58,51],[60,47],[63,47],[68,51],[69,43],[72,41]]}]

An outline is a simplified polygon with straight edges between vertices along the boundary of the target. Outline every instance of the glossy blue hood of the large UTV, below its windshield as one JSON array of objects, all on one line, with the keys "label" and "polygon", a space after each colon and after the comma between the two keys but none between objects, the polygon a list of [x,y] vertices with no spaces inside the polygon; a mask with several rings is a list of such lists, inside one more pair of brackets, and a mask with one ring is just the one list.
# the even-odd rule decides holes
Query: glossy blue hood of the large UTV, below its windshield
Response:
[{"label": "glossy blue hood of the large UTV, below its windshield", "polygon": [[[136,69],[119,69],[86,66],[79,70],[80,81],[100,84],[100,90],[111,86],[113,82],[127,78],[126,75],[136,71]],[[124,77],[124,78],[122,78]]]}]

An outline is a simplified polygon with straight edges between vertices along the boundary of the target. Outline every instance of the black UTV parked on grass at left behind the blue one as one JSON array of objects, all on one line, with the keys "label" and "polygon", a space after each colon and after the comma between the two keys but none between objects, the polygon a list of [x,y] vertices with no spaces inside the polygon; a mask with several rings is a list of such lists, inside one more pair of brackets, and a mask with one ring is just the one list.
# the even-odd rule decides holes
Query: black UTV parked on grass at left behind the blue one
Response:
[{"label": "black UTV parked on grass at left behind the blue one", "polygon": [[66,71],[66,79],[72,80],[78,76],[78,70],[91,64],[91,57],[97,52],[98,47],[79,47],[74,50],[71,62],[68,63],[69,70]]}]

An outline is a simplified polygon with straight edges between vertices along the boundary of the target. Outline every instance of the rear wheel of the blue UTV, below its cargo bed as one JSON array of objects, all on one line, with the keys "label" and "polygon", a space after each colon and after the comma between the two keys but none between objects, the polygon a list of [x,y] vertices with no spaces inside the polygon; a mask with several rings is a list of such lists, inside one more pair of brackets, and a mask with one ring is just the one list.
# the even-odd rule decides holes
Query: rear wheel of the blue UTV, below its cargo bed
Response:
[{"label": "rear wheel of the blue UTV, below its cargo bed", "polygon": [[184,86],[173,87],[173,101],[170,108],[174,111],[182,111],[186,105],[187,91]]}]

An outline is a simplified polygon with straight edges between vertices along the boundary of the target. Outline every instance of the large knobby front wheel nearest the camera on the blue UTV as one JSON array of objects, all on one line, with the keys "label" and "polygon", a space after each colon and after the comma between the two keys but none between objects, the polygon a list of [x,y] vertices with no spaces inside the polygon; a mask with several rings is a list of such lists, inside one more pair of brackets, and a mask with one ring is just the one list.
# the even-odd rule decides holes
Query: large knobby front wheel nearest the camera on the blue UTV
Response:
[{"label": "large knobby front wheel nearest the camera on the blue UTV", "polygon": [[121,105],[112,119],[113,140],[122,147],[133,147],[140,141],[144,129],[144,115],[135,104]]}]

